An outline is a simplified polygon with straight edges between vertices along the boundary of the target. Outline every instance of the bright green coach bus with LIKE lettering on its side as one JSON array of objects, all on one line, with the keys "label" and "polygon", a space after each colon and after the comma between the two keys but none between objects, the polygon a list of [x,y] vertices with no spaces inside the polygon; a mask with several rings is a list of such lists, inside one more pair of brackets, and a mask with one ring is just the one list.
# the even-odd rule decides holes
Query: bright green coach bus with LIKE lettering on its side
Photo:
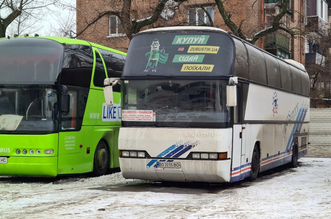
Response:
[{"label": "bright green coach bus with LIKE lettering on its side", "polygon": [[119,167],[120,85],[103,83],[126,54],[64,37],[0,39],[0,175],[47,176]]}]

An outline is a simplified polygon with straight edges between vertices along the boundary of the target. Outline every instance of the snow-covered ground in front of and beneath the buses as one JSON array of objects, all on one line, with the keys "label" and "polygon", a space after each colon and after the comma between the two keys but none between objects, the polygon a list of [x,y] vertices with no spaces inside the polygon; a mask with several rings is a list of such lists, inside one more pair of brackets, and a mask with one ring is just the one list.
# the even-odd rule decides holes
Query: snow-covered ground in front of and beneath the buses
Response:
[{"label": "snow-covered ground in front of and beneath the buses", "polygon": [[0,177],[1,219],[331,218],[331,158],[301,158],[254,182],[160,183],[120,173],[86,178]]}]

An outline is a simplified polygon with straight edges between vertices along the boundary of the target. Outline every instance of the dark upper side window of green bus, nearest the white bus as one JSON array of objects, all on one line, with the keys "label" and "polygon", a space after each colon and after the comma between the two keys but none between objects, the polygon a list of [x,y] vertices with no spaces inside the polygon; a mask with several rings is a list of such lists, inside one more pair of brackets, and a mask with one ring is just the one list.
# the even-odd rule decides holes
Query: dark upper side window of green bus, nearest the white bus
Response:
[{"label": "dark upper side window of green bus, nearest the white bus", "polygon": [[[101,53],[101,56],[106,64],[108,78],[120,78],[122,75],[125,56],[105,49],[98,48],[98,50]],[[116,84],[113,87],[113,91],[120,92],[121,86],[119,84]]]}]

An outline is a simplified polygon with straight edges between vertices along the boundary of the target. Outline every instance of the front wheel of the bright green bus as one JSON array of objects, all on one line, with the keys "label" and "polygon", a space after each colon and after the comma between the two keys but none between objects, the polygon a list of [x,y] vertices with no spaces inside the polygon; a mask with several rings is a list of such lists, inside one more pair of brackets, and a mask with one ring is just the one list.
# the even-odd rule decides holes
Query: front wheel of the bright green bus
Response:
[{"label": "front wheel of the bright green bus", "polygon": [[102,176],[105,175],[109,168],[109,150],[108,145],[104,140],[100,140],[95,148],[93,159],[93,175]]}]

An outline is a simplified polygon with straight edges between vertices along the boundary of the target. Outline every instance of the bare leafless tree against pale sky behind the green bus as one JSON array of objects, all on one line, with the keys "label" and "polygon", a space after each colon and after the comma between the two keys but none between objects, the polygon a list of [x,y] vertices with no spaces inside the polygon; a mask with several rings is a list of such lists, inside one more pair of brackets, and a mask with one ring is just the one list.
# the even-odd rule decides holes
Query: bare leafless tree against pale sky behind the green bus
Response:
[{"label": "bare leafless tree against pale sky behind the green bus", "polygon": [[0,37],[6,36],[8,27],[11,34],[35,29],[35,24],[50,11],[49,6],[58,2],[60,0],[0,0]]}]

